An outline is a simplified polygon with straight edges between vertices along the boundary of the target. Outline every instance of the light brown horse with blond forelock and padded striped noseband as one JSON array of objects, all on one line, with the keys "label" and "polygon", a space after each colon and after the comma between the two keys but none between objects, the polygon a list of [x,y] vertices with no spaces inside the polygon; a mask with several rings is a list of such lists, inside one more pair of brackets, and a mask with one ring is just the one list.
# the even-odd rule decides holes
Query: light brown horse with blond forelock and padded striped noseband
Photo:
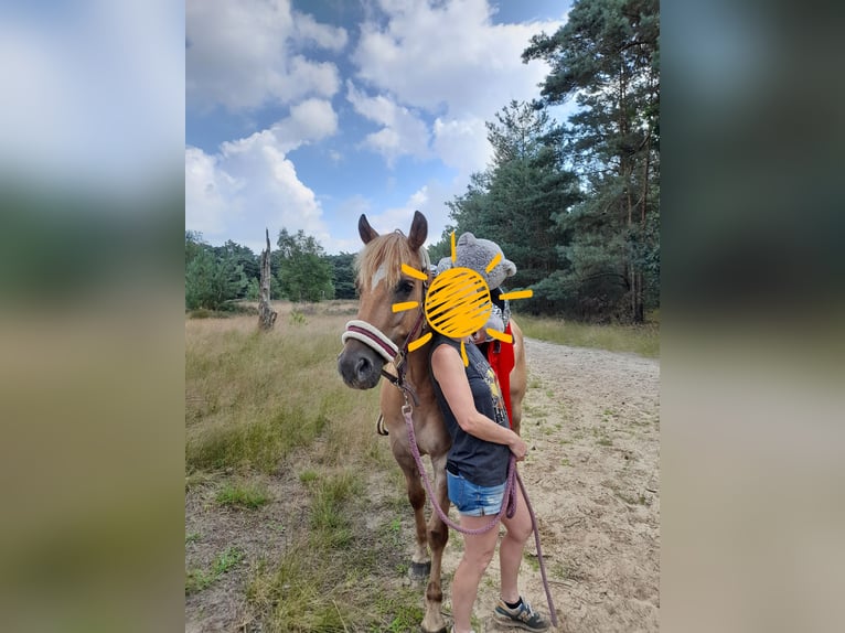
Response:
[{"label": "light brown horse with blond forelock and padded striped noseband", "polygon": [[[439,633],[446,631],[446,621],[440,611],[443,598],[441,559],[449,530],[436,512],[431,512],[426,523],[426,493],[411,454],[403,414],[404,406],[413,407],[416,443],[419,453],[428,454],[431,460],[436,501],[448,513],[446,458],[451,438],[429,376],[429,344],[419,348],[413,345],[428,331],[424,305],[426,290],[432,279],[428,255],[422,246],[428,235],[428,222],[417,211],[407,237],[399,229],[379,235],[370,226],[366,215],[362,214],[359,218],[359,235],[364,243],[356,259],[359,312],[356,319],[346,324],[342,337],[343,351],[338,356],[338,371],[343,382],[354,389],[372,389],[379,382],[382,384],[381,415],[389,437],[391,450],[405,475],[408,501],[414,508],[416,546],[409,572],[416,580],[422,581],[427,576],[429,579],[421,629],[425,633]],[[403,270],[403,264],[422,275],[411,277]],[[419,304],[419,311],[392,309],[393,304],[408,304],[411,301]],[[512,428],[518,433],[527,374],[522,331],[513,320],[511,328],[514,345],[511,421]],[[411,352],[408,352],[409,345]],[[381,380],[382,377],[386,377],[386,380]]]}]

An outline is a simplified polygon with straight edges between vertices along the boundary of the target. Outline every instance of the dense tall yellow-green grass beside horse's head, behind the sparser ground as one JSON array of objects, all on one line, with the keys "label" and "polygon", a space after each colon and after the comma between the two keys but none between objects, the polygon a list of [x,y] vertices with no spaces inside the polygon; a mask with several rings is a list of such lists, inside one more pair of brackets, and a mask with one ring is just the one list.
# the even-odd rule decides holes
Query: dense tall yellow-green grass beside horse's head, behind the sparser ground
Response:
[{"label": "dense tall yellow-green grass beside horse's head, behind the sparser ground", "polygon": [[[335,357],[344,314],[312,314],[257,331],[256,319],[185,322],[185,465],[195,471],[274,472],[297,448],[323,442],[322,459],[338,463],[372,450],[375,391],[353,391]],[[297,312],[302,313],[302,312]]]}]

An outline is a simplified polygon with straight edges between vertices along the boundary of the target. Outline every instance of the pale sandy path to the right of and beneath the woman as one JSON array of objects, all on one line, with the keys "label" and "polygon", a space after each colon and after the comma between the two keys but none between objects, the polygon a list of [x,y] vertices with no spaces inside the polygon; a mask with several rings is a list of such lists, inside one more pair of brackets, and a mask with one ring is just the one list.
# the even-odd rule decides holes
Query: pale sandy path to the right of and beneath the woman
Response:
[{"label": "pale sandy path to the right of and beneath the woman", "polygon": [[[520,472],[541,526],[557,631],[657,631],[659,362],[535,340],[526,353],[522,434],[531,453]],[[522,590],[548,612],[533,539],[526,549]],[[460,555],[452,534],[449,578]],[[498,630],[498,588],[496,556],[475,603],[485,631]]]}]

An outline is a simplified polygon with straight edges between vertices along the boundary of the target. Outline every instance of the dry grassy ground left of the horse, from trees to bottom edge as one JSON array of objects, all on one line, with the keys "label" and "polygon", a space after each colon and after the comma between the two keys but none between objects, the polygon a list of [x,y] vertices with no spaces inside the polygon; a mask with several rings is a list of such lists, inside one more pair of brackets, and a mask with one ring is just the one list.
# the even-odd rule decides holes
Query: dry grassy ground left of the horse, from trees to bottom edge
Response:
[{"label": "dry grassy ground left of the horse, from trees to bottom edge", "polygon": [[[378,393],[336,372],[350,302],[185,321],[186,616],[264,631],[409,631],[411,513]],[[233,525],[238,527],[233,528]],[[223,552],[238,552],[231,568]],[[225,569],[224,569],[225,567]]]}]

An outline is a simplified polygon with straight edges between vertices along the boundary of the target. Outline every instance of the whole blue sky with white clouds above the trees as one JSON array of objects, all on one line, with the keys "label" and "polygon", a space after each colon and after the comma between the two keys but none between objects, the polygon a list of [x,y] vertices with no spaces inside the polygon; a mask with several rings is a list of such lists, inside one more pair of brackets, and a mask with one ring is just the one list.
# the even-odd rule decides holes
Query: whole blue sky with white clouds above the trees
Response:
[{"label": "whole blue sky with white clouds above the trees", "polygon": [[[265,227],[356,253],[357,218],[428,243],[492,157],[485,121],[539,96],[567,0],[186,0],[185,228],[255,253]],[[566,108],[556,110],[557,118]]]}]

